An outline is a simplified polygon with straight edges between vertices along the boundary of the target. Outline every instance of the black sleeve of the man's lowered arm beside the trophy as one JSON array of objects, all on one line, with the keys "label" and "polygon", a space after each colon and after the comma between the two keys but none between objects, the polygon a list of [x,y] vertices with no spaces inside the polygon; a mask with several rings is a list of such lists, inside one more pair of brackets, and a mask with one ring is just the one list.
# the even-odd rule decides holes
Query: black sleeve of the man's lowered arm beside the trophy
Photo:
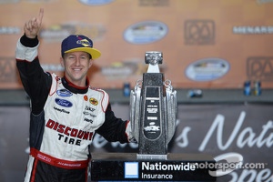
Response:
[{"label": "black sleeve of the man's lowered arm beside the trophy", "polygon": [[121,118],[116,118],[109,104],[106,109],[106,121],[100,126],[96,133],[104,136],[109,142],[119,141],[120,143],[128,143],[126,135],[126,126],[128,121],[123,121]]}]

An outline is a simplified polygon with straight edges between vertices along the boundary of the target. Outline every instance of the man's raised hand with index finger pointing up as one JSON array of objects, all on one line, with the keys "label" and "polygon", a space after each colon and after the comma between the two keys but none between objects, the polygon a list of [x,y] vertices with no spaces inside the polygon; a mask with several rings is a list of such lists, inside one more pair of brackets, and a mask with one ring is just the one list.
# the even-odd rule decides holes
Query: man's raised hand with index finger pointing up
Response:
[{"label": "man's raised hand with index finger pointing up", "polygon": [[37,17],[33,17],[32,19],[25,23],[24,31],[26,37],[35,38],[35,36],[38,35],[40,27],[42,25],[43,16],[44,9],[40,8],[39,15]]}]

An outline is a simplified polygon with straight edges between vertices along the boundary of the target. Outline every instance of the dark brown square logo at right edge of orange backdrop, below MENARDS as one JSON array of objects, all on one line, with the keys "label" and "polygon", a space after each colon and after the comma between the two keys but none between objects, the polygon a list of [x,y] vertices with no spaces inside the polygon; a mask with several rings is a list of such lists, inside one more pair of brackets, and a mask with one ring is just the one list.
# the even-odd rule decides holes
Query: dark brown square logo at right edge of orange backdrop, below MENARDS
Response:
[{"label": "dark brown square logo at right edge of orange backdrop, below MENARDS", "polygon": [[247,59],[248,79],[273,81],[273,56],[252,56]]}]

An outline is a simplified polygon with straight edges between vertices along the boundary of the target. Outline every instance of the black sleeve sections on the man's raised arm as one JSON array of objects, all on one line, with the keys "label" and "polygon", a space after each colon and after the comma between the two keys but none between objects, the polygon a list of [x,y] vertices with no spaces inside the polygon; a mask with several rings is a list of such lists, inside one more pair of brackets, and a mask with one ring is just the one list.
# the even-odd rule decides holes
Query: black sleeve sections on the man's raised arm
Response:
[{"label": "black sleeve sections on the man's raised arm", "polygon": [[[37,38],[31,39],[27,38],[25,35],[21,37],[20,42],[22,45],[28,47],[35,47],[38,45]],[[25,92],[31,99],[32,113],[38,115],[44,109],[45,101],[52,83],[52,76],[44,72],[43,68],[40,66],[38,56],[36,56],[35,60],[32,62],[17,60],[16,66]]]}]

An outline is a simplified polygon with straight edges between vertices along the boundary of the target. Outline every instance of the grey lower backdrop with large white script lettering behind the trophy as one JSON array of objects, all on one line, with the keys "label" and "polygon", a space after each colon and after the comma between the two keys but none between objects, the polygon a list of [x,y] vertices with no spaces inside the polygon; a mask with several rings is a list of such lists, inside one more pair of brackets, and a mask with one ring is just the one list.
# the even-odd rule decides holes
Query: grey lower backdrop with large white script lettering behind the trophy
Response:
[{"label": "grey lower backdrop with large white script lettering behind the trophy", "polygon": [[[128,105],[113,104],[112,108],[117,117],[129,118]],[[177,128],[168,152],[207,154],[218,163],[237,158],[227,164],[231,168],[238,165],[238,169],[227,171],[226,167],[217,181],[272,181],[272,110],[272,105],[262,104],[178,105]],[[23,180],[29,153],[28,126],[27,106],[0,107],[1,182]],[[133,143],[108,143],[96,135],[91,152],[137,153],[138,148]]]}]

